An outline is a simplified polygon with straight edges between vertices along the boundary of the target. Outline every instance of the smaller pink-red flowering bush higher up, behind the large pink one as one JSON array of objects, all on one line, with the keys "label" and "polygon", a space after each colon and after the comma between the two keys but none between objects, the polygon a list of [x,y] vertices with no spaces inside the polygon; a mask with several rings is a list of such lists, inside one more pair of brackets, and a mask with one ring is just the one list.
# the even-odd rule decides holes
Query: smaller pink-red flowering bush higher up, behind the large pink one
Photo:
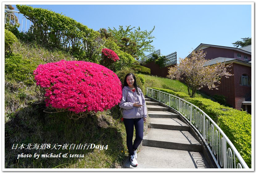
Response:
[{"label": "smaller pink-red flowering bush higher up, behind the large pink one", "polygon": [[118,61],[118,55],[110,49],[102,49],[101,51],[101,61],[100,64],[104,65],[105,67],[113,70],[113,63]]}]

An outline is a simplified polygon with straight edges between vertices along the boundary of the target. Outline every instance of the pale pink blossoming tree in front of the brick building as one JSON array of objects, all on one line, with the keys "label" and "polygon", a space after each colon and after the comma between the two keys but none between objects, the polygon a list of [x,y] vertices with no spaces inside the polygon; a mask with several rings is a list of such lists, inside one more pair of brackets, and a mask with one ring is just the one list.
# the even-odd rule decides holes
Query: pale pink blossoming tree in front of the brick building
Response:
[{"label": "pale pink blossoming tree in front of the brick building", "polygon": [[179,59],[179,64],[174,67],[169,67],[169,75],[171,79],[180,79],[187,85],[188,95],[194,97],[196,91],[207,86],[209,89],[216,88],[220,84],[221,77],[229,78],[232,76],[228,69],[232,64],[217,63],[207,65],[206,53],[203,50],[197,52],[192,51],[190,58]]}]

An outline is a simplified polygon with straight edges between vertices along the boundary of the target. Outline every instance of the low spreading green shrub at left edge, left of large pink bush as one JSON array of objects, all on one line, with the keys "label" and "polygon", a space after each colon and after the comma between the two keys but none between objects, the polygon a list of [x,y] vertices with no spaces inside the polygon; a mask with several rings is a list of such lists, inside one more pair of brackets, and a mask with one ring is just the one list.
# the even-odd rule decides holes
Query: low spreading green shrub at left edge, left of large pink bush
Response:
[{"label": "low spreading green shrub at left edge, left of large pink bush", "polygon": [[37,65],[33,62],[23,59],[21,54],[10,54],[5,58],[5,78],[23,82],[25,85],[35,83],[33,71]]}]

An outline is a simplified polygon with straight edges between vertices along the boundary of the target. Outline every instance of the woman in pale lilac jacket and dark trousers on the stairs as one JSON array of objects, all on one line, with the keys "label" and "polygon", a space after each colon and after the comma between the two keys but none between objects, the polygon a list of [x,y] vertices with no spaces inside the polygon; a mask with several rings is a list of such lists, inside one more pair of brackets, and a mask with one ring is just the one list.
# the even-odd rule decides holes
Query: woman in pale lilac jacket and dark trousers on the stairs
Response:
[{"label": "woman in pale lilac jacket and dark trousers on the stairs", "polygon": [[[143,139],[143,122],[147,119],[147,107],[144,95],[137,86],[133,73],[126,74],[123,86],[123,97],[119,107],[123,108],[123,121],[126,129],[126,143],[130,161],[137,166],[137,148]],[[135,126],[135,140],[132,144]]]}]

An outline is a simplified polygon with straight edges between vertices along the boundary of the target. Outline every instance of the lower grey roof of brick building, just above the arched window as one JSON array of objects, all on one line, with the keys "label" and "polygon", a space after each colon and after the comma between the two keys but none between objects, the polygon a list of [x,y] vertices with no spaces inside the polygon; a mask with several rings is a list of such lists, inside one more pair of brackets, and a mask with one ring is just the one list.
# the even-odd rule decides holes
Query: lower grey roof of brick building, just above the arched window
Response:
[{"label": "lower grey roof of brick building, just above the arched window", "polygon": [[229,63],[237,63],[237,64],[242,64],[242,65],[246,65],[246,66],[251,66],[250,62],[246,62],[246,61],[242,61],[236,58],[225,58],[225,57],[217,57],[214,58],[212,60],[207,61],[204,66],[208,66],[208,65],[213,65],[213,64],[217,64],[217,63],[225,63],[225,64],[229,64]]}]

